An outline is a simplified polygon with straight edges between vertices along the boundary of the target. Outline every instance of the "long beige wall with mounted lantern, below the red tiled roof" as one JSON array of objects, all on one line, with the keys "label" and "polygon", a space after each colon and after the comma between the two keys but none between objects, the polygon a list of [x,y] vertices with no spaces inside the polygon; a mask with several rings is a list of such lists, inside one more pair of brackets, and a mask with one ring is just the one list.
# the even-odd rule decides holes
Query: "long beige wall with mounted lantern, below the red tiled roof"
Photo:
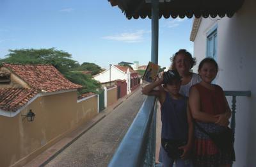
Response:
[{"label": "long beige wall with mounted lantern, below the red tiled roof", "polygon": [[[0,116],[0,166],[22,166],[64,134],[97,115],[97,95],[77,103],[77,91],[38,97],[17,116]],[[22,120],[29,109],[33,122]]]}]

